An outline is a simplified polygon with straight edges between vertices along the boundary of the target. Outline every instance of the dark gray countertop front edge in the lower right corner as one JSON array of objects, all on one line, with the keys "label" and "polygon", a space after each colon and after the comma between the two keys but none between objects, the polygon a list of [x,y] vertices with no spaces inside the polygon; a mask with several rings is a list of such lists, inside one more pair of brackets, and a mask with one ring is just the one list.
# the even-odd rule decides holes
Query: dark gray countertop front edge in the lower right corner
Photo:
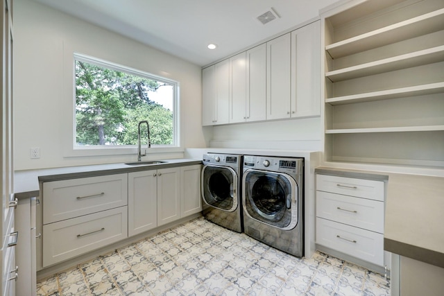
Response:
[{"label": "dark gray countertop front edge in the lower right corner", "polygon": [[384,250],[444,268],[444,254],[424,247],[384,238]]}]

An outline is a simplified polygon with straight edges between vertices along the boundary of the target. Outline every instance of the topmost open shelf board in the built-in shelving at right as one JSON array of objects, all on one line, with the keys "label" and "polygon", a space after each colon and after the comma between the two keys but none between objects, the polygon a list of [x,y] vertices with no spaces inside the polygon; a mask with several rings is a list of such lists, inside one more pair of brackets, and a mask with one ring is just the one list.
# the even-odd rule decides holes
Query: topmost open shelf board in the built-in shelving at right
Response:
[{"label": "topmost open shelf board in the built-in shelving at right", "polygon": [[328,51],[332,58],[341,58],[345,55],[375,49],[443,29],[444,8],[327,45],[325,50]]}]

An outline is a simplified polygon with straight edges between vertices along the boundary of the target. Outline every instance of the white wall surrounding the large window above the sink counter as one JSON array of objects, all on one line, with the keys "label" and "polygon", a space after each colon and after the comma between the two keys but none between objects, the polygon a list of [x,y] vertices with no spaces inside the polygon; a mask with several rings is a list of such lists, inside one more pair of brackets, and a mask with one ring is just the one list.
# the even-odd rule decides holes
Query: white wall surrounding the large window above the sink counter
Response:
[{"label": "white wall surrounding the large window above the sink counter", "polygon": [[[14,24],[16,171],[135,160],[135,154],[67,157],[74,104],[68,69],[72,51],[179,81],[182,147],[207,146],[208,131],[201,127],[200,116],[200,67],[35,1],[15,1]],[[31,147],[40,148],[40,159],[30,158]]]}]

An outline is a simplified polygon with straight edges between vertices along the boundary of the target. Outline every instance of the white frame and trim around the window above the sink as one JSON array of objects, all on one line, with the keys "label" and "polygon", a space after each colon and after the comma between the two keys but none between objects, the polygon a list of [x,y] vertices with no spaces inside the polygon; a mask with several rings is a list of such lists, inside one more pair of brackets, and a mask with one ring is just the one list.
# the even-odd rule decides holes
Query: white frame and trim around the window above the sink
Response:
[{"label": "white frame and trim around the window above the sink", "polygon": [[[100,67],[106,67],[116,71],[123,71],[132,75],[143,76],[159,82],[166,82],[174,85],[173,87],[173,144],[172,145],[151,145],[149,154],[154,153],[177,153],[183,152],[184,148],[180,141],[180,82],[169,78],[160,77],[146,71],[141,71],[132,67],[126,67],[121,64],[94,58],[90,55],[82,53],[71,53],[71,85],[70,92],[72,94],[71,101],[71,137],[69,148],[65,150],[65,157],[81,157],[81,156],[106,156],[106,155],[134,155],[137,154],[137,145],[110,145],[110,146],[77,146],[76,145],[76,60],[96,64]],[[66,73],[66,72],[65,72]],[[65,146],[67,147],[67,146]],[[142,148],[144,144],[142,143]]]}]

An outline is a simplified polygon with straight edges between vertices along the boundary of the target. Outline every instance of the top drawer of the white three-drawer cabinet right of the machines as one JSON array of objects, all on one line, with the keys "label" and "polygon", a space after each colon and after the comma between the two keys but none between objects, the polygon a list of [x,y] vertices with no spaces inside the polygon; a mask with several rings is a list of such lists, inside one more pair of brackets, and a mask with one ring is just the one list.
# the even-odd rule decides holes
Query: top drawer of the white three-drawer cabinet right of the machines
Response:
[{"label": "top drawer of the white three-drawer cabinet right of the machines", "polygon": [[316,190],[384,201],[384,182],[316,175]]}]

